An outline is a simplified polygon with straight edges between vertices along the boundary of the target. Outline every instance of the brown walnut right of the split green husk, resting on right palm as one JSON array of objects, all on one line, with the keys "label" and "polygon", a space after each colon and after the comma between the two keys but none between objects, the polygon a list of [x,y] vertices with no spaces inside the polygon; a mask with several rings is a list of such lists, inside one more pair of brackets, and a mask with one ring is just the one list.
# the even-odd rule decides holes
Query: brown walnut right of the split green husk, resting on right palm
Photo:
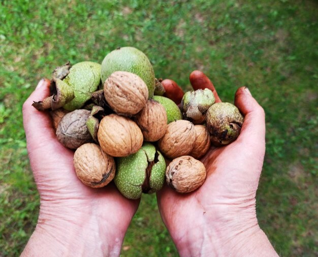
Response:
[{"label": "brown walnut right of the split green husk, resting on right palm", "polygon": [[166,169],[168,185],[179,193],[188,193],[199,188],[205,181],[206,170],[201,161],[192,156],[174,159]]}]

